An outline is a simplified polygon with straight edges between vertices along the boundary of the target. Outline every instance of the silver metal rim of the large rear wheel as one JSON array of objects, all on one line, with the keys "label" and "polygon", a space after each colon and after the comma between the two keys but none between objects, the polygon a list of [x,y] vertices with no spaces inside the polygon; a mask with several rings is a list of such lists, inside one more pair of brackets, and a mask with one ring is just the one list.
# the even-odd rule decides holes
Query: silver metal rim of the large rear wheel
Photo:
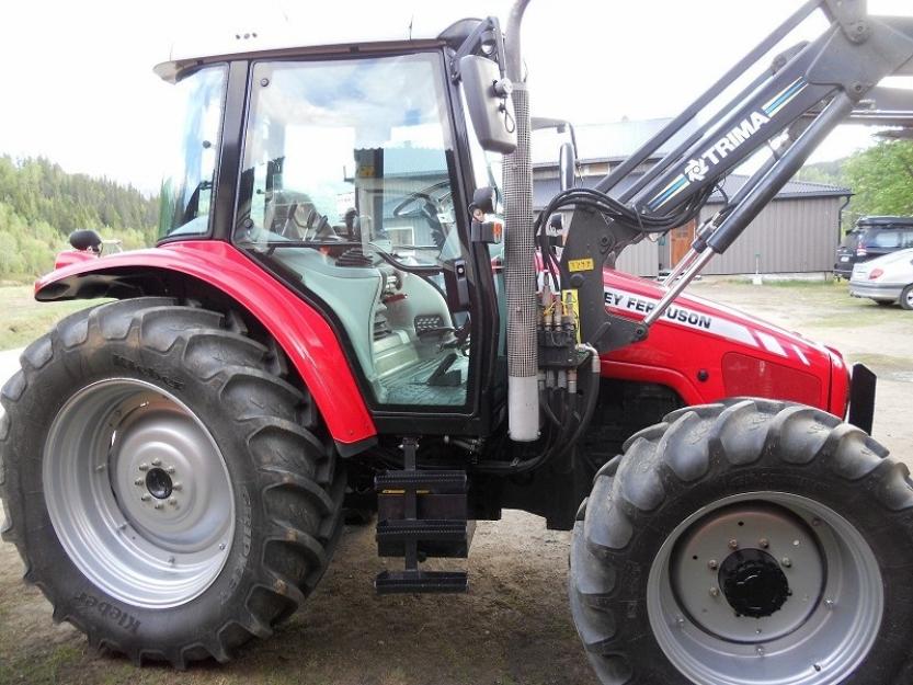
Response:
[{"label": "silver metal rim of the large rear wheel", "polygon": [[43,478],[60,544],[109,595],[173,607],[221,572],[235,533],[228,469],[170,392],[126,378],[77,392],[48,432]]}]

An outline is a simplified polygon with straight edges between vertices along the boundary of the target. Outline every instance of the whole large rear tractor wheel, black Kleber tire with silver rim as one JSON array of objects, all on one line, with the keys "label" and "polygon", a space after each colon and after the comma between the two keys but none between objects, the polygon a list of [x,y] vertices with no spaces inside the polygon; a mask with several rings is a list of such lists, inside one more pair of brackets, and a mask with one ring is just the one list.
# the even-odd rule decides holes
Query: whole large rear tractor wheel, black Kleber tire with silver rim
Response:
[{"label": "whole large rear tractor wheel, black Kleber tire with silver rim", "polygon": [[0,396],[3,538],[56,621],[136,663],[225,662],[267,637],[342,529],[316,410],[235,321],[101,305],[30,345]]}]

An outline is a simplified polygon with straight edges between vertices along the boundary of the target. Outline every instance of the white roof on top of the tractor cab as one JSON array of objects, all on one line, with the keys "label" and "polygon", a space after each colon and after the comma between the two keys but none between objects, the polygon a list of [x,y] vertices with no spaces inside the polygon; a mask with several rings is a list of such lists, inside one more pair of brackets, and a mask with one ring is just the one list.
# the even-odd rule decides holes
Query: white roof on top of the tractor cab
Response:
[{"label": "white roof on top of the tractor cab", "polygon": [[[372,25],[353,22],[316,22],[305,28],[290,23],[263,30],[253,26],[224,31],[190,42],[176,42],[170,58],[155,67],[166,81],[174,82],[181,72],[225,59],[244,59],[298,54],[346,54],[385,49],[422,48],[449,45],[454,49],[476,28],[479,19],[459,19],[449,24],[406,14],[388,16]],[[364,28],[356,35],[353,25]]]}]

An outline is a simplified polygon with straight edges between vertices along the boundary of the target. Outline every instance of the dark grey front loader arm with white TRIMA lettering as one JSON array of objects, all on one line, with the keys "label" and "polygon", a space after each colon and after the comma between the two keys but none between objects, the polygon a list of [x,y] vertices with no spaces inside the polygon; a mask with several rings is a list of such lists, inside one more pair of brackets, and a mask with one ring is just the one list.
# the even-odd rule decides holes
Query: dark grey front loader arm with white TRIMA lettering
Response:
[{"label": "dark grey front loader arm with white TRIMA lettering", "polygon": [[[769,57],[818,9],[831,21],[824,33],[776,55],[717,114],[696,124],[740,76]],[[863,0],[811,0],[595,189],[559,193],[536,230],[549,250],[544,224],[559,208],[574,207],[560,260],[560,287],[578,290],[583,339],[601,352],[643,339],[642,327],[606,313],[602,265],[646,235],[666,232],[696,217],[714,189],[760,148],[769,146],[773,156],[699,228],[692,249],[665,281],[666,293],[648,313],[646,327],[715,254],[739,238],[838,124],[913,127],[913,92],[878,88],[892,75],[913,75],[913,19],[868,16]],[[635,183],[621,183],[672,139],[681,142]]]}]

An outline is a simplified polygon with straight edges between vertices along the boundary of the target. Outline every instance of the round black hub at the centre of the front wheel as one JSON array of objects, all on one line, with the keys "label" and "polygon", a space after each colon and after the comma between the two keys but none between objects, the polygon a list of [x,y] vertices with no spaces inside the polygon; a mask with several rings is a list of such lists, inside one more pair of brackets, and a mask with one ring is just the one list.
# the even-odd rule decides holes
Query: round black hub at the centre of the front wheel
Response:
[{"label": "round black hub at the centre of the front wheel", "polygon": [[738,616],[771,616],[791,594],[777,560],[760,549],[729,555],[720,567],[719,580],[727,602]]}]

